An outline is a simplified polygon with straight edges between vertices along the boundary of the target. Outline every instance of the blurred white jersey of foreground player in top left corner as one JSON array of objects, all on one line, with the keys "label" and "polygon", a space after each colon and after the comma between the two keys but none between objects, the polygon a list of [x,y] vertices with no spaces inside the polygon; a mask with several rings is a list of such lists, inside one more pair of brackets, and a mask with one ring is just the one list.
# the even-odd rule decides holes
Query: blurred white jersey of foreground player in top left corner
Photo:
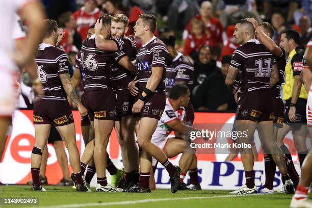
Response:
[{"label": "blurred white jersey of foreground player in top left corner", "polygon": [[14,22],[16,13],[31,0],[1,0],[0,6],[0,28],[3,31],[0,34],[0,71],[6,70],[13,72],[15,64],[11,58],[14,51]]}]

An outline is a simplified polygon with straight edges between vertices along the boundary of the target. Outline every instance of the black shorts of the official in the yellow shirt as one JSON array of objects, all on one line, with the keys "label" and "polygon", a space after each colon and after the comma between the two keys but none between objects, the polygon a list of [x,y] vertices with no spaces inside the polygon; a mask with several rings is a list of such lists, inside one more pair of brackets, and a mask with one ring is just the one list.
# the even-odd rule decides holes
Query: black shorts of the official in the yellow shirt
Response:
[{"label": "black shorts of the official in the yellow shirt", "polygon": [[289,114],[289,110],[290,110],[290,103],[291,103],[291,99],[286,100],[285,103],[285,114],[284,114],[284,123],[289,123],[289,124],[298,124],[298,123],[306,123],[306,102],[307,99],[303,99],[303,98],[298,98],[297,103],[296,103],[296,121],[292,122],[289,120],[288,114]]}]

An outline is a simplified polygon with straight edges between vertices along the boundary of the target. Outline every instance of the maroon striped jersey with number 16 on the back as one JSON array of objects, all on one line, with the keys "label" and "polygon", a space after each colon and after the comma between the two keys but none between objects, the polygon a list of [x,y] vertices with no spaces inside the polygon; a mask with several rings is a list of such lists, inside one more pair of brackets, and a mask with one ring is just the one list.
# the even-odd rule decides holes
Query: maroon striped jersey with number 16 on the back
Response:
[{"label": "maroon striped jersey with number 16 on the back", "polygon": [[86,69],[85,91],[112,89],[109,79],[116,56],[115,52],[98,49],[95,45],[95,35],[87,38],[81,48],[83,68]]}]

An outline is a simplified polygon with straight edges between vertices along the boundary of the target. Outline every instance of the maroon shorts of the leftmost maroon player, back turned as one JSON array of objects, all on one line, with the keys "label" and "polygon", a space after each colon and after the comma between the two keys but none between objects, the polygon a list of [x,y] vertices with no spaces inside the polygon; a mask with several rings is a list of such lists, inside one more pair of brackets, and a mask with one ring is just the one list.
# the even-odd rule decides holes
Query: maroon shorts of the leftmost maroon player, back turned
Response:
[{"label": "maroon shorts of the leftmost maroon player, back turned", "polygon": [[64,126],[73,123],[69,103],[64,100],[40,99],[34,103],[34,124]]}]

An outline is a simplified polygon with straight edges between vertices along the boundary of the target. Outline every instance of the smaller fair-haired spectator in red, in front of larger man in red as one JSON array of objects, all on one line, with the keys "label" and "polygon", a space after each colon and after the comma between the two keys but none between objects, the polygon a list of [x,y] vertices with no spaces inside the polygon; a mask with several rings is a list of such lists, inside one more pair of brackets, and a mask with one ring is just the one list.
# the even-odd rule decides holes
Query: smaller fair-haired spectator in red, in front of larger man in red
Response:
[{"label": "smaller fair-haired spectator in red, in front of larger man in red", "polygon": [[198,50],[202,45],[209,45],[210,41],[205,34],[205,25],[202,20],[194,19],[191,24],[191,33],[184,45],[185,55],[192,59],[198,57]]}]

